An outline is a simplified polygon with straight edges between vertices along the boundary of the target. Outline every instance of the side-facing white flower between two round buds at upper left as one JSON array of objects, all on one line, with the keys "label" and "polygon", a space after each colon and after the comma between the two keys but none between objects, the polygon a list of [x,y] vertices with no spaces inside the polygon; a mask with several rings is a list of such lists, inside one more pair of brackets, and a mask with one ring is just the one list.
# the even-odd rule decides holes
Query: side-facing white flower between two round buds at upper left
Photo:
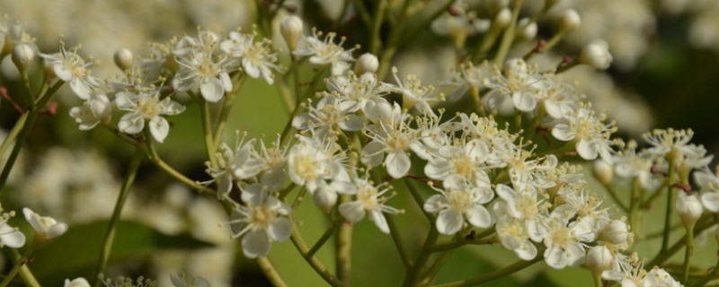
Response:
[{"label": "side-facing white flower between two round buds at upper left", "polygon": [[40,54],[40,57],[45,58],[47,63],[52,65],[52,71],[60,80],[70,83],[70,89],[77,97],[83,100],[90,99],[90,93],[98,86],[97,80],[87,69],[87,66],[93,63],[85,63],[84,59],[77,55],[77,48],[67,50],[61,43],[59,53]]}]

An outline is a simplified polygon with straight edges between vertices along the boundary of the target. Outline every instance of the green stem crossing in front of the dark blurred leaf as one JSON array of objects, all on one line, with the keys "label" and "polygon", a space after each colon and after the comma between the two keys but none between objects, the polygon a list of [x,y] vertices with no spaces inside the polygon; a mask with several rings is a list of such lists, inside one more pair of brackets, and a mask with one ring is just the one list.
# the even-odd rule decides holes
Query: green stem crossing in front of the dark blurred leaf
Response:
[{"label": "green stem crossing in front of the dark blurred leaf", "polygon": [[135,181],[135,176],[138,174],[140,162],[142,161],[143,153],[137,149],[135,154],[132,155],[132,160],[129,162],[129,168],[125,175],[125,181],[122,182],[120,188],[120,194],[115,202],[115,209],[112,211],[110,222],[108,223],[107,232],[105,232],[104,243],[102,244],[102,250],[100,251],[100,258],[97,263],[97,271],[95,272],[95,287],[99,287],[102,283],[100,274],[105,271],[107,261],[110,258],[110,251],[112,248],[112,241],[115,239],[115,232],[117,231],[118,222],[120,222],[120,213],[122,213],[122,206],[125,205],[125,200],[128,199],[129,188],[132,187],[132,183]]}]

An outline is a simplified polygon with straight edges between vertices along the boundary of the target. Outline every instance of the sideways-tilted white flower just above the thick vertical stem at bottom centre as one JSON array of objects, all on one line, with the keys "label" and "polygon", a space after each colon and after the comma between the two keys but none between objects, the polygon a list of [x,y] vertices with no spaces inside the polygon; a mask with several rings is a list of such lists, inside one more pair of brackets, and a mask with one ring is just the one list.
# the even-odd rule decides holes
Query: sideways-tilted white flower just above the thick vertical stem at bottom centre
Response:
[{"label": "sideways-tilted white flower just above the thick vertical stem at bottom centre", "polygon": [[391,189],[390,187],[380,185],[379,187],[386,187],[380,190],[366,178],[355,177],[351,182],[335,181],[332,187],[342,194],[357,196],[354,201],[340,204],[340,213],[350,222],[361,221],[368,212],[369,220],[375,222],[382,232],[389,233],[389,226],[382,213],[402,213],[395,207],[385,204],[387,198],[383,195]]}]

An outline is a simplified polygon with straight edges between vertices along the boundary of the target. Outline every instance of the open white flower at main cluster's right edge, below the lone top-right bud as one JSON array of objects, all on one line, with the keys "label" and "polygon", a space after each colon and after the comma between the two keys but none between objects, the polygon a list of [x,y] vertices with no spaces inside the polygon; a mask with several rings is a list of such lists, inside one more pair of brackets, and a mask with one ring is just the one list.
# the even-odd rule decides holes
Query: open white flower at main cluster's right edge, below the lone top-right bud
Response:
[{"label": "open white flower at main cluster's right edge, below the lone top-right bud", "polygon": [[585,160],[594,160],[599,155],[602,160],[612,162],[611,141],[609,136],[617,131],[614,123],[605,125],[606,115],[595,115],[589,107],[581,107],[569,113],[568,124],[557,124],[552,135],[560,141],[576,142],[577,153]]}]

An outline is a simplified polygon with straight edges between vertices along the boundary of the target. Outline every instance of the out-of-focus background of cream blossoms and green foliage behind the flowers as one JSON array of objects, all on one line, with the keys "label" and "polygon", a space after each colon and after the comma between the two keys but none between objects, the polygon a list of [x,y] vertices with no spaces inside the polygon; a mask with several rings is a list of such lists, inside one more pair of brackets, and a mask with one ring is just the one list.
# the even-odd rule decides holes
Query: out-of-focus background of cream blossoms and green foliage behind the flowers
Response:
[{"label": "out-of-focus background of cream blossoms and green foliage behind the flowers", "polygon": [[[368,11],[377,4],[369,0],[362,2]],[[428,5],[439,7],[444,2],[431,1]],[[502,1],[464,1],[467,11],[472,12],[466,14],[466,19],[444,13],[438,24],[431,25],[432,29],[423,30],[400,47],[393,59],[394,65],[400,71],[417,74],[422,83],[448,79],[450,66],[456,65],[462,57],[452,39],[453,29],[489,17],[487,7],[493,2]],[[112,64],[112,54],[118,48],[129,48],[136,55],[145,55],[148,42],[164,42],[184,33],[194,35],[198,26],[217,32],[235,30],[236,27],[252,30],[258,8],[271,4],[276,3],[272,0],[0,0],[0,13],[8,15],[6,22],[10,24],[20,22],[22,28],[37,39],[41,52],[57,52],[58,35],[62,34],[68,46],[82,44],[81,55],[92,55],[99,60],[100,65],[93,67],[93,73],[110,75],[120,72]],[[401,4],[402,1],[389,1],[390,10]],[[537,13],[543,4],[543,1],[526,1],[522,15]],[[358,21],[352,5],[344,13],[343,1],[288,0],[284,5],[286,9],[273,19],[272,25],[276,26],[284,14],[297,13],[306,22],[306,28],[316,26],[319,30],[334,30],[347,36],[345,48],[359,44],[362,48],[355,51],[355,57],[369,47],[368,27]],[[578,91],[586,94],[596,109],[605,110],[609,118],[617,120],[619,136],[638,139],[652,128],[692,128],[694,143],[704,144],[710,153],[719,151],[719,126],[715,126],[719,113],[719,1],[563,0],[538,22],[537,38],[550,38],[555,32],[558,15],[569,8],[581,15],[581,26],[556,48],[533,58],[532,62],[539,65],[540,70],[551,69],[564,56],[575,57],[593,39],[605,39],[614,57],[608,71],[579,66],[565,73],[564,80],[576,83]],[[423,16],[422,12],[415,14]],[[455,24],[457,26],[453,26]],[[276,48],[283,50],[280,62],[287,63],[287,48],[283,47],[282,40],[276,34],[265,36],[275,40]],[[480,38],[481,33],[470,31],[466,45],[475,45],[473,43]],[[534,43],[519,42],[510,57],[523,56]],[[22,91],[19,75],[9,57],[0,63],[0,74],[0,83],[10,93]],[[58,113],[38,120],[21,160],[13,170],[12,192],[4,192],[6,198],[2,200],[6,211],[29,206],[36,212],[50,214],[71,227],[78,227],[49,243],[37,255],[33,270],[37,268],[39,278],[48,285],[58,285],[65,278],[89,276],[92,272],[99,248],[77,245],[76,242],[99,242],[102,238],[102,224],[96,222],[111,214],[131,153],[130,146],[117,141],[106,131],[81,132],[77,129],[67,112],[80,100],[70,95],[69,89],[61,91],[53,101],[58,102]],[[200,122],[195,120],[198,114],[197,107],[191,106],[181,116],[173,117],[170,135],[159,147],[164,159],[177,170],[190,178],[206,180],[209,178],[204,173],[205,153],[203,143],[198,140]],[[4,136],[12,128],[16,118],[12,107],[0,100],[0,135]],[[226,130],[239,129],[251,136],[266,135],[273,139],[287,120],[275,87],[248,81],[240,92]],[[226,140],[232,141],[232,138],[228,136]],[[428,226],[412,216],[413,212],[419,211],[411,206],[408,198],[397,196],[393,201],[400,206],[406,204],[409,211],[398,218],[399,224]],[[297,218],[303,221],[303,234],[308,242],[313,242],[322,234],[327,222],[314,209],[300,208],[298,212]],[[197,196],[173,183],[171,178],[148,163],[141,168],[123,218],[128,222],[120,230],[116,242],[126,244],[118,243],[120,247],[116,246],[117,250],[113,252],[114,264],[107,272],[110,277],[142,274],[156,278],[160,286],[168,286],[168,274],[185,271],[208,279],[212,286],[267,284],[258,267],[238,253],[238,241],[229,239],[230,231],[217,227],[217,223],[227,220],[221,206],[211,198]],[[421,244],[422,230],[406,228],[406,232],[410,244]],[[358,267],[354,270],[353,281],[357,286],[377,282],[397,285],[401,281],[401,276],[395,276],[404,272],[399,269],[399,257],[379,256],[396,252],[389,237],[382,236],[371,222],[365,221],[357,224],[355,242],[353,263]],[[361,244],[365,242],[374,246],[363,248]],[[483,270],[515,260],[510,252],[495,249],[473,248],[457,252],[446,271],[439,274],[438,282],[482,274]],[[391,266],[359,267],[372,266],[377,256],[386,259],[386,265]],[[326,265],[333,265],[329,248],[323,248],[319,257]],[[273,244],[271,260],[282,262],[278,268],[288,283],[301,282],[297,286],[323,284],[297,256],[290,242]],[[706,265],[714,264],[714,259],[707,260]],[[59,268],[59,265],[65,267]],[[7,270],[7,266],[5,263],[0,268]],[[571,278],[567,276],[576,276],[580,281],[591,280],[589,272],[582,269],[562,272],[543,266],[531,269],[507,278],[503,283],[518,285],[533,278],[527,285],[564,283],[575,286],[576,281],[566,280]]]}]

